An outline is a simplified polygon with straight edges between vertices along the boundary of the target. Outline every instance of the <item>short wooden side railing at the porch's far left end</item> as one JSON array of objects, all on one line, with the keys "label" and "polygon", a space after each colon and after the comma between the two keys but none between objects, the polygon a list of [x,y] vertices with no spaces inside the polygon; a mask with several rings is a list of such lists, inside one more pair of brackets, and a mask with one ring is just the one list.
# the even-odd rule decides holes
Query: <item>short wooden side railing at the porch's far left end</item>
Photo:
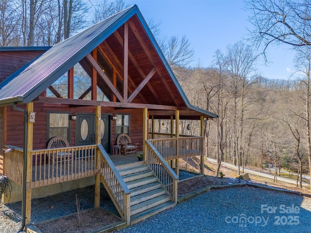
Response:
[{"label": "short wooden side railing at the porch's far left end", "polygon": [[11,149],[3,156],[3,175],[6,175],[11,181],[22,185],[23,174],[23,149],[12,145],[4,146]]}]

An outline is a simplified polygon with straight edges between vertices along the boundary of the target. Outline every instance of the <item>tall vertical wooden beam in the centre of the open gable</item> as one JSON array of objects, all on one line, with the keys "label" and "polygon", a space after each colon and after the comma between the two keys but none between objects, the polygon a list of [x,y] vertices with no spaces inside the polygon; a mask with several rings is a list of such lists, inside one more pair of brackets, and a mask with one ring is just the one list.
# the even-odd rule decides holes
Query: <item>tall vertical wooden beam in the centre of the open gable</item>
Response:
[{"label": "tall vertical wooden beam in the centre of the open gable", "polygon": [[123,40],[123,102],[127,102],[128,88],[128,23],[124,23],[124,40]]}]

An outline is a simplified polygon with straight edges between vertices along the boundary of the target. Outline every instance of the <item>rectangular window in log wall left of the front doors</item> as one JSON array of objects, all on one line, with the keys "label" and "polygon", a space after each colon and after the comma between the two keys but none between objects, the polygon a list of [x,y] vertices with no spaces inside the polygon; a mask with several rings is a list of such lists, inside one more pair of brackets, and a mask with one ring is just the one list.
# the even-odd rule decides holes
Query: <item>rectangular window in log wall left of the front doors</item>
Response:
[{"label": "rectangular window in log wall left of the front doors", "polygon": [[69,113],[48,113],[47,139],[59,136],[69,141]]}]

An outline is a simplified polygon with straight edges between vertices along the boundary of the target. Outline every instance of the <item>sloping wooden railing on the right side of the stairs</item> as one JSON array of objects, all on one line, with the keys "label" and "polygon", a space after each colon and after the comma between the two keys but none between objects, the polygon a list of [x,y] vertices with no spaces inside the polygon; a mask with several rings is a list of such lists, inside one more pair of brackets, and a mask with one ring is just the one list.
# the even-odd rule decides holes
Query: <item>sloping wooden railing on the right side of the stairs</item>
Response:
[{"label": "sloping wooden railing on the right side of the stairs", "polygon": [[172,200],[177,203],[178,176],[149,140],[146,140],[146,145],[146,162],[148,166],[155,173],[157,179],[163,184],[169,195],[172,197]]}]

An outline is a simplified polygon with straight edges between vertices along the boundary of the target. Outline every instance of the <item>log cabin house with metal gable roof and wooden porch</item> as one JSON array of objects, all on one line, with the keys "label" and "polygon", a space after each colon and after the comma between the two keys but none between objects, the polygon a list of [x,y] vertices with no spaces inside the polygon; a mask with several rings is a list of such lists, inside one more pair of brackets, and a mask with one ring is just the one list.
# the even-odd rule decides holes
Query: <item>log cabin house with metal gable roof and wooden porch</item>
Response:
[{"label": "log cabin house with metal gable roof and wooden porch", "polygon": [[[128,225],[175,205],[178,159],[201,156],[204,173],[212,117],[190,104],[136,5],[53,47],[0,48],[0,174],[22,192],[25,224],[31,199],[60,183],[95,184],[99,207],[102,182]],[[170,119],[171,133],[155,133],[155,119]],[[179,135],[179,119],[199,120],[201,135]],[[142,162],[112,162],[121,133]],[[47,148],[55,136],[69,147]]]}]

